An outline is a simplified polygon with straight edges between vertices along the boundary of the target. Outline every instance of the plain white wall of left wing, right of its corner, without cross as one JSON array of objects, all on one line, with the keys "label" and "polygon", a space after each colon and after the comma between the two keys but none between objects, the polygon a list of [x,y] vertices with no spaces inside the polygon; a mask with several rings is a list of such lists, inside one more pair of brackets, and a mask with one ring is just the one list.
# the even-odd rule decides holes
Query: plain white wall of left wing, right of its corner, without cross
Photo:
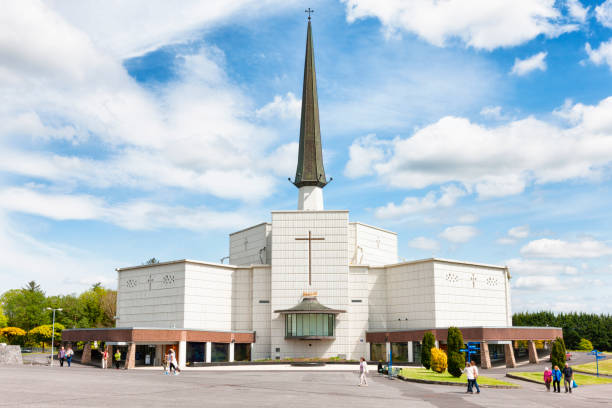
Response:
[{"label": "plain white wall of left wing, right of its corner, without cross", "polygon": [[186,264],[185,325],[190,329],[232,330],[232,266]]}]

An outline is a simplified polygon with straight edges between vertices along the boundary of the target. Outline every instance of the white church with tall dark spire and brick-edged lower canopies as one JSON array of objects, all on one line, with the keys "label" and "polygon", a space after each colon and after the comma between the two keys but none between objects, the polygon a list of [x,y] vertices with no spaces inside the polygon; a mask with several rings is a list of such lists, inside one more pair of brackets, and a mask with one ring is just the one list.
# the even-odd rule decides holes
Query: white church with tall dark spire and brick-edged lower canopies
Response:
[{"label": "white church with tall dark spire and brick-edged lower canopies", "polygon": [[[510,271],[446,259],[399,261],[395,232],[325,209],[317,82],[308,21],[297,209],[229,235],[229,264],[182,259],[117,269],[117,327],[69,329],[64,342],[126,352],[126,366],[340,357],[418,363],[426,331],[459,327],[480,364],[515,364],[559,328],[512,327]],[[545,344],[545,343],[544,343]],[[112,353],[110,353],[112,355]]]}]

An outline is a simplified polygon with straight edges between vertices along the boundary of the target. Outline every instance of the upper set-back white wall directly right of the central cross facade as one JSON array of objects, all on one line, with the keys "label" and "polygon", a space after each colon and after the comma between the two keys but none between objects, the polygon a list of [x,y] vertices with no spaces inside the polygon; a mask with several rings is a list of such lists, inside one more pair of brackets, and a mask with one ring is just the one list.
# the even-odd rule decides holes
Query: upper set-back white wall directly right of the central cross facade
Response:
[{"label": "upper set-back white wall directly right of the central cross facade", "polygon": [[397,263],[397,234],[371,225],[351,222],[348,255],[351,265]]}]

